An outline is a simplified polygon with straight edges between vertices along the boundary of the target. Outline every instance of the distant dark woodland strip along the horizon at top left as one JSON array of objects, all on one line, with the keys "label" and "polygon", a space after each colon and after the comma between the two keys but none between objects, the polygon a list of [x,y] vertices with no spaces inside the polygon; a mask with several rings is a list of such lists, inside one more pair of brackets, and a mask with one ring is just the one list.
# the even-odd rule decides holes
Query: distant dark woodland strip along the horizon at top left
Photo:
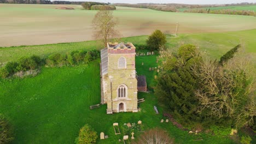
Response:
[{"label": "distant dark woodland strip along the horizon at top left", "polygon": [[82,4],[84,2],[69,2],[69,1],[47,1],[47,0],[0,0],[0,3],[12,4]]}]

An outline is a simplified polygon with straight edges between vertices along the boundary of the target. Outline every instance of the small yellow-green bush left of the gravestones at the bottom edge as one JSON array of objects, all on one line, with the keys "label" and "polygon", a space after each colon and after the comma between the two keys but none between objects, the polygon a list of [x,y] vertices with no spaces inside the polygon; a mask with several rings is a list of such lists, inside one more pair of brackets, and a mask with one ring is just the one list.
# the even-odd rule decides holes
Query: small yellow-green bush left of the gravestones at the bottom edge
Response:
[{"label": "small yellow-green bush left of the gravestones at the bottom edge", "polygon": [[76,144],[90,144],[90,143],[96,143],[97,139],[97,132],[94,131],[90,127],[90,125],[85,124],[84,127],[82,127],[79,131],[79,136],[75,138]]}]

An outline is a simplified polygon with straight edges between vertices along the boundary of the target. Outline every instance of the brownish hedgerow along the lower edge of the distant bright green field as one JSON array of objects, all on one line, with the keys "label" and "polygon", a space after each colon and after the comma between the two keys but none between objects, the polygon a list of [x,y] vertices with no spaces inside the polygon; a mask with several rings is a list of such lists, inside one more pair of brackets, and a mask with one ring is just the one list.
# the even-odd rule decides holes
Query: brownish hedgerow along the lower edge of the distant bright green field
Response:
[{"label": "brownish hedgerow along the lower edge of the distant bright green field", "polygon": [[207,14],[228,14],[228,15],[249,15],[254,16],[255,12],[253,10],[231,10],[231,9],[220,9],[211,10],[209,9],[187,9],[184,13],[207,13]]}]

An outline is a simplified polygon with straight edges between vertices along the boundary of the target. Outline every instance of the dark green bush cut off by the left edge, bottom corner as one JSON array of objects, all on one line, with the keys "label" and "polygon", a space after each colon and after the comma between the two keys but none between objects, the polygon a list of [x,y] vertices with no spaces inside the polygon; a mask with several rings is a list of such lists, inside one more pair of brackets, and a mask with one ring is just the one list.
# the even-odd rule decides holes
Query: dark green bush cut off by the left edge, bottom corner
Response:
[{"label": "dark green bush cut off by the left edge, bottom corner", "polygon": [[0,113],[0,143],[9,143],[12,140],[10,125],[7,119]]}]

